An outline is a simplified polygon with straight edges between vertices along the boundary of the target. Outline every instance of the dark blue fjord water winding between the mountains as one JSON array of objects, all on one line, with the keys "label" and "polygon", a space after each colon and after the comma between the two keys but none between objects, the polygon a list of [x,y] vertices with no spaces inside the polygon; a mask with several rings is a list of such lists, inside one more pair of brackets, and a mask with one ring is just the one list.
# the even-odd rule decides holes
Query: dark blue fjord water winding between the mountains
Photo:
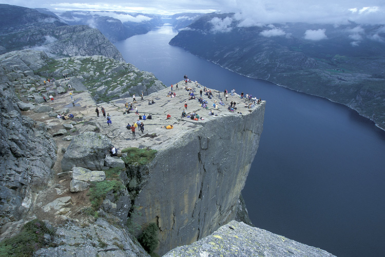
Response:
[{"label": "dark blue fjord water winding between the mountains", "polygon": [[237,75],[168,45],[164,26],[115,45],[166,85],[203,85],[266,100],[264,130],[242,195],[260,228],[339,257],[385,256],[385,132],[326,99]]}]

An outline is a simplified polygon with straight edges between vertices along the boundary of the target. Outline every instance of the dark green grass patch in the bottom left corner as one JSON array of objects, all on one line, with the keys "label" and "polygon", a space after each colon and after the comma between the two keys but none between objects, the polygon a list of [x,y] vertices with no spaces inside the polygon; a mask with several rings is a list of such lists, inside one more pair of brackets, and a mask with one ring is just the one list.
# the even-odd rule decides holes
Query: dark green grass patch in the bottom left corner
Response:
[{"label": "dark green grass patch in the bottom left corner", "polygon": [[20,233],[0,243],[0,257],[32,256],[44,246],[44,234],[54,233],[42,221],[33,219],[23,226]]}]

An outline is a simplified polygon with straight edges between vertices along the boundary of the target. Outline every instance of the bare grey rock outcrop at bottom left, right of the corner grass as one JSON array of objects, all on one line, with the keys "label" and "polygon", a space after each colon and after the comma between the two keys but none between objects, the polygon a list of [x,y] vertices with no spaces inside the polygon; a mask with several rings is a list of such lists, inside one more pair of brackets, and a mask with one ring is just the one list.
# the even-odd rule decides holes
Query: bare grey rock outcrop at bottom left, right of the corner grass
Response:
[{"label": "bare grey rock outcrop at bottom left, right of the corner grass", "polygon": [[34,256],[45,257],[149,257],[138,241],[121,228],[114,227],[105,219],[94,224],[76,225],[68,222],[56,229],[54,242],[57,247],[40,249]]}]

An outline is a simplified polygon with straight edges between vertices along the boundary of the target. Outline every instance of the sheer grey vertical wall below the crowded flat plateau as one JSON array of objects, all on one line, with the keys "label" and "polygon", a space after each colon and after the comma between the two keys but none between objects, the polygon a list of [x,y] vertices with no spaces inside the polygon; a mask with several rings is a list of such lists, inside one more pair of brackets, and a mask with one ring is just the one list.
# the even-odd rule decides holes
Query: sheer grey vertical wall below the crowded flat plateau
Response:
[{"label": "sheer grey vertical wall below the crowded flat plateau", "polygon": [[[265,103],[203,122],[158,150],[135,205],[137,222],[156,222],[159,253],[209,235],[235,217],[257,153]],[[186,128],[187,129],[187,128]]]}]

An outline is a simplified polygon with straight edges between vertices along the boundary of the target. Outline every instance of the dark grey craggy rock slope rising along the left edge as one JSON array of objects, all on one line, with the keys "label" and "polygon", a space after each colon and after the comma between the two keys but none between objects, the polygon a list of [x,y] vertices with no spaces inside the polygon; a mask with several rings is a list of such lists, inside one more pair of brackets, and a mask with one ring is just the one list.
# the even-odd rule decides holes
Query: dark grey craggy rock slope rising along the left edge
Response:
[{"label": "dark grey craggy rock slope rising along the left edge", "polygon": [[0,58],[0,226],[22,218],[31,206],[33,189],[52,178],[56,160],[52,137],[44,126],[21,114],[14,91],[16,80],[32,79],[24,72],[39,66],[33,60],[16,60],[12,53]]}]

